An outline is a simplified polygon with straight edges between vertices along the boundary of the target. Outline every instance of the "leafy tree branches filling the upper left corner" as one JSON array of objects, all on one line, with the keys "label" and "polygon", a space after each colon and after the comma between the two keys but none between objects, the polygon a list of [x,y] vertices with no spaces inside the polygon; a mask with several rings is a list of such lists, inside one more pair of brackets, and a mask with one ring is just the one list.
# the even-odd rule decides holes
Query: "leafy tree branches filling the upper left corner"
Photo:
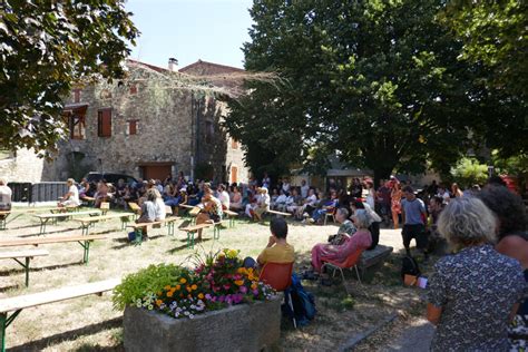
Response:
[{"label": "leafy tree branches filling the upper left corner", "polygon": [[0,2],[0,148],[53,150],[71,86],[124,75],[138,35],[124,2]]}]

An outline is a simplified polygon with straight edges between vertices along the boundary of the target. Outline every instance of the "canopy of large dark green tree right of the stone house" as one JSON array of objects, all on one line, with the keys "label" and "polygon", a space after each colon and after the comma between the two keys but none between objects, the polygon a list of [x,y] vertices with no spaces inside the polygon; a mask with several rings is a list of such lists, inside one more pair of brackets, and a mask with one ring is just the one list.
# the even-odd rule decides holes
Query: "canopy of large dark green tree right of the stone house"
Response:
[{"label": "canopy of large dark green tree right of the stone house", "polygon": [[379,178],[426,159],[448,172],[475,144],[503,143],[506,129],[488,123],[521,124],[521,104],[480,84],[488,67],[460,60],[463,42],[439,19],[444,3],[255,0],[246,69],[285,81],[248,85],[231,104],[226,126],[250,166],[321,160],[306,157],[316,147]]}]

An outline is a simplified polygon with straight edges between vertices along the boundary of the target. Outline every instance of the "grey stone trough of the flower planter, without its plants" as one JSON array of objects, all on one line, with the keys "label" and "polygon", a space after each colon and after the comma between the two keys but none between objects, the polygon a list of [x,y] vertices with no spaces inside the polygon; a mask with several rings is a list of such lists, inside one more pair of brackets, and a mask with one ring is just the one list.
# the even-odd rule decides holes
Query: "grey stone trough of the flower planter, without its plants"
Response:
[{"label": "grey stone trough of the flower planter, without its plants", "polygon": [[281,335],[282,295],[194,319],[173,319],[135,306],[125,310],[126,351],[261,351]]}]

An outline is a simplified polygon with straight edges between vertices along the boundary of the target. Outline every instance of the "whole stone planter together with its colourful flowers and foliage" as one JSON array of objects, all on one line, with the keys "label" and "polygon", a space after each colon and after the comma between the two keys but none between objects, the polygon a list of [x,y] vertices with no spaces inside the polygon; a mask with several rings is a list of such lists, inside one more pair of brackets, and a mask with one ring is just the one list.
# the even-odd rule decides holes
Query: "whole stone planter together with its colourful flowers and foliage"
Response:
[{"label": "whole stone planter together with its colourful flowers and foliage", "polygon": [[[150,265],[114,291],[127,351],[262,350],[278,341],[281,297],[224,250],[196,267]],[[253,303],[253,304],[242,304]]]}]

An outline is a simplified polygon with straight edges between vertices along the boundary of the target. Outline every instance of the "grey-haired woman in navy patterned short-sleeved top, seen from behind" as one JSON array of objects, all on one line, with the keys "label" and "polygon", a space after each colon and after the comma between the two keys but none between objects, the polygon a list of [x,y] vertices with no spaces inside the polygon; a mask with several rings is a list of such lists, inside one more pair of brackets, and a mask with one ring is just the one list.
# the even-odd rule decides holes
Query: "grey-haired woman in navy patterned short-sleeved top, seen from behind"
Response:
[{"label": "grey-haired woman in navy patterned short-sleeved top, seen from behind", "polygon": [[509,351],[508,324],[526,282],[519,262],[490,244],[496,227],[475,197],[452,199],[441,213],[438,229],[459,251],[439,260],[429,281],[431,351]]}]

